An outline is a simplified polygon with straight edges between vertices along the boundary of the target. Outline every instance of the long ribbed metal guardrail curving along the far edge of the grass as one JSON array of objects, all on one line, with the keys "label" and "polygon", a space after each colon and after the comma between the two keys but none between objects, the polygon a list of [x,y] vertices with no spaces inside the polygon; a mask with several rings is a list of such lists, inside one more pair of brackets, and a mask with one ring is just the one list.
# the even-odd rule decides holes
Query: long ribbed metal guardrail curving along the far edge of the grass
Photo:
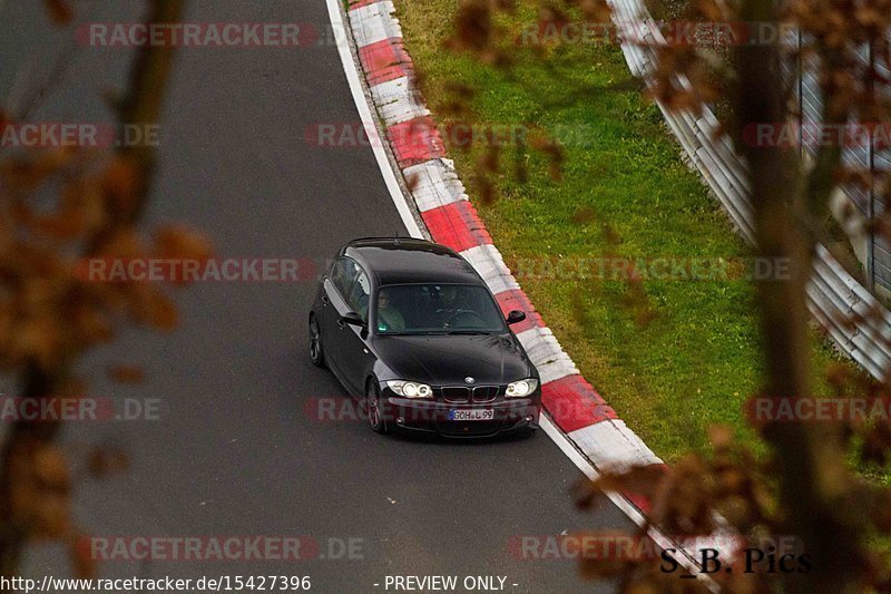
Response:
[{"label": "long ribbed metal guardrail curving along the far edge of the grass", "polygon": [[[664,45],[665,38],[642,0],[608,2],[620,35],[623,30],[628,33],[621,35],[623,39],[635,40],[621,45],[631,74],[650,86],[657,61],[655,48]],[[679,88],[691,88],[684,76],[677,76],[675,84]],[[697,117],[688,110],[669,111],[658,100],[656,104],[733,224],[754,244],[746,166],[726,135],[716,138],[718,121],[714,113],[703,106]],[[891,312],[848,274],[823,245],[816,250],[807,299],[811,313],[843,352],[874,378],[891,377]]]}]

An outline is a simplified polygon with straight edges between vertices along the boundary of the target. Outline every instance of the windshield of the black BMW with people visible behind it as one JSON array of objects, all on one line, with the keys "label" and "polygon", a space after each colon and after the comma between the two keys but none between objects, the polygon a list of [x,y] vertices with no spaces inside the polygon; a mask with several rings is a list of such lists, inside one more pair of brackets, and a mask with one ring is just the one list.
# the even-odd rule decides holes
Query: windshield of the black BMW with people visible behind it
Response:
[{"label": "windshield of the black BMW with people visible behind it", "polygon": [[379,334],[491,334],[505,331],[501,311],[483,286],[402,284],[378,291]]}]

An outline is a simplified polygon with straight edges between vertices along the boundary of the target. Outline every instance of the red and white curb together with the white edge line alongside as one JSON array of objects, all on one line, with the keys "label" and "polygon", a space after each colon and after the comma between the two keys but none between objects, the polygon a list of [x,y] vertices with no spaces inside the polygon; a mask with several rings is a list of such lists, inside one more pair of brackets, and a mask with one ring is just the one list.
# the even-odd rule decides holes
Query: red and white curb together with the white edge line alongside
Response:
[{"label": "red and white curb together with the white edge line alongside", "polygon": [[[579,373],[492,245],[454,164],[446,157],[435,123],[414,85],[414,68],[403,45],[399,20],[393,16],[392,0],[347,0],[350,33],[343,23],[341,0],[326,1],[335,32],[343,31],[342,40],[345,42],[339,43],[337,50],[356,108],[384,182],[409,232],[459,252],[488,283],[506,314],[516,309],[526,312],[526,321],[513,329],[541,374],[542,403],[550,417],[542,416],[542,428],[591,479],[630,467],[666,469]],[[359,65],[352,49],[355,49]],[[360,68],[364,85],[356,74]],[[364,89],[368,89],[368,96]],[[371,114],[369,101],[376,115]],[[389,142],[392,158],[383,149],[379,124]],[[401,183],[394,179],[398,175],[402,177]],[[407,204],[409,195],[413,213],[407,212],[411,210]],[[676,546],[646,523],[644,516],[650,507],[648,500],[631,493],[608,493],[607,496],[631,520],[647,526],[648,535],[659,546]],[[685,553],[678,562],[697,577],[706,580],[709,590],[715,590],[707,575],[699,573],[693,555],[688,551],[678,552]]]}]

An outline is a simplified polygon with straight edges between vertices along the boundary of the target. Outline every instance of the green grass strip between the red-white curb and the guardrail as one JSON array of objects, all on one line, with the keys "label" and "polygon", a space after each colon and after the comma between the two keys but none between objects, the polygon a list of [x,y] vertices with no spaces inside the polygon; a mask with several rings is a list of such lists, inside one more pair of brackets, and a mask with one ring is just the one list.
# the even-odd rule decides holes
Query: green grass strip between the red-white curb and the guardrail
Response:
[{"label": "green grass strip between the red-white curb and the guardrail", "polygon": [[[519,31],[518,23],[532,22],[531,2],[519,4],[516,20],[501,25]],[[443,49],[457,0],[399,0],[396,7],[407,47],[423,74],[424,95],[441,121],[449,120],[443,106],[451,99],[444,89],[461,81],[477,90],[470,106],[476,123],[587,130],[586,143],[566,146],[561,182],[552,181],[547,160],[533,154],[529,178],[520,183],[511,173],[512,155],[502,155],[506,167],[491,204],[474,198],[481,149],[450,150],[508,262],[542,255],[750,255],[717,202],[682,162],[658,110],[630,81],[617,46],[566,46],[547,65],[516,49],[515,76],[508,76]],[[589,92],[579,99],[555,71]],[[644,323],[639,308],[629,305],[626,283],[519,280],[585,377],[666,461],[688,450],[705,451],[712,423],[730,425],[755,441],[742,418],[743,401],[758,389],[762,364],[751,284],[646,281],[654,317]],[[838,359],[817,340],[813,353],[817,377]]]}]

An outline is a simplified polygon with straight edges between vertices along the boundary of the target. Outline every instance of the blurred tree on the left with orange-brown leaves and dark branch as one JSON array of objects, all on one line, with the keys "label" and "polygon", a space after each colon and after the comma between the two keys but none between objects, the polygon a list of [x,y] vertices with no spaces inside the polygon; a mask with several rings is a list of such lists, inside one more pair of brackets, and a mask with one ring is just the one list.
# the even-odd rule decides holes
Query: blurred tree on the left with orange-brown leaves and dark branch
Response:
[{"label": "blurred tree on the left with orange-brown leaves and dark branch", "polygon": [[[72,18],[63,0],[48,0],[47,7],[57,25]],[[183,1],[150,0],[147,7],[150,22],[174,22]],[[119,125],[146,129],[159,120],[174,53],[172,47],[154,45],[138,50],[116,106]],[[80,398],[86,384],[74,374],[76,361],[110,341],[117,325],[175,325],[173,302],[160,291],[136,283],[106,286],[76,271],[90,257],[207,255],[207,242],[184,227],[158,228],[154,245],[137,233],[155,158],[155,147],[144,143],[116,149],[98,174],[97,155],[80,148],[0,163],[0,366],[18,376],[21,398]],[[52,176],[62,181],[62,191],[58,210],[46,213],[31,196]],[[28,541],[46,538],[70,545],[77,573],[94,571],[89,552],[76,546],[68,460],[55,445],[60,428],[59,421],[17,420],[6,435],[0,449],[0,575],[16,574]],[[120,460],[114,466],[119,468]]]}]

